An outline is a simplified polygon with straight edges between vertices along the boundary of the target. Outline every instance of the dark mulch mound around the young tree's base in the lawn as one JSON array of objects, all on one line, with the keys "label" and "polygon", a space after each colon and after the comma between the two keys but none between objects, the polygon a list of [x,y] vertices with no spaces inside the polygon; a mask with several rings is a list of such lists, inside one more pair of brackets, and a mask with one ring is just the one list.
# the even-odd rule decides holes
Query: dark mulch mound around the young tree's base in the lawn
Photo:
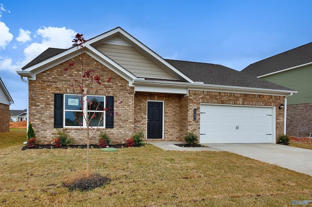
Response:
[{"label": "dark mulch mound around the young tree's base in the lawn", "polygon": [[88,191],[96,188],[103,187],[111,181],[108,177],[103,177],[100,174],[91,174],[89,177],[86,175],[74,176],[63,181],[62,186],[68,188],[69,190],[80,190]]}]

